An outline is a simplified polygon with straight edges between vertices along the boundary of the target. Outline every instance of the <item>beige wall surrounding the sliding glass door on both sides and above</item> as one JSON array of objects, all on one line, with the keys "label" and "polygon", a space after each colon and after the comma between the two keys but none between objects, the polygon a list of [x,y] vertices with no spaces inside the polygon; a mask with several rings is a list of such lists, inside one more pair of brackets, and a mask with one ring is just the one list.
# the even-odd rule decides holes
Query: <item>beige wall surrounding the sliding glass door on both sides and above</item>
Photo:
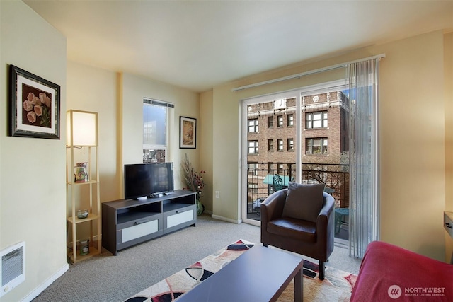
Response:
[{"label": "beige wall surrounding the sliding glass door on both sides and above", "polygon": [[328,81],[335,75],[323,75],[325,79],[316,76],[294,79],[237,92],[231,92],[231,88],[382,53],[386,57],[382,59],[379,89],[381,239],[444,260],[445,82],[441,31],[215,87],[212,190],[218,190],[220,198],[213,197],[214,216],[241,220],[236,202],[240,198],[241,100]]}]

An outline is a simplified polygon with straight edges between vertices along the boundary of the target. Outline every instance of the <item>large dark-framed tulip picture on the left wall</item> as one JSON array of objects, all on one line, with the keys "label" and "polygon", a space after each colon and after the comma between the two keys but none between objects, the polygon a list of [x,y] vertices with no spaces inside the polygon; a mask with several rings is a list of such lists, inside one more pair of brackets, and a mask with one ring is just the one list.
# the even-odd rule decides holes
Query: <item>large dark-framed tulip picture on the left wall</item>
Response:
[{"label": "large dark-framed tulip picture on the left wall", "polygon": [[9,77],[9,135],[59,139],[60,86],[14,65]]}]

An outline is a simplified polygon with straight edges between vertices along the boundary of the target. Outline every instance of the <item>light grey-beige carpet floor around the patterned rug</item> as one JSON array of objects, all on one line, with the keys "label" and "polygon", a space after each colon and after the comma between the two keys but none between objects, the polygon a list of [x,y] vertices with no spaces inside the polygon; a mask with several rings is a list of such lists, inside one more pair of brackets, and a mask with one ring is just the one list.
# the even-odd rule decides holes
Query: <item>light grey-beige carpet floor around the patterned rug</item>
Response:
[{"label": "light grey-beige carpet floor around the patterned rug", "polygon": [[[69,265],[33,301],[124,301],[239,238],[260,244],[260,228],[202,215],[195,227],[135,245],[117,256],[103,250],[97,257]],[[358,274],[360,260],[348,254],[347,248],[336,246],[326,266]]]}]

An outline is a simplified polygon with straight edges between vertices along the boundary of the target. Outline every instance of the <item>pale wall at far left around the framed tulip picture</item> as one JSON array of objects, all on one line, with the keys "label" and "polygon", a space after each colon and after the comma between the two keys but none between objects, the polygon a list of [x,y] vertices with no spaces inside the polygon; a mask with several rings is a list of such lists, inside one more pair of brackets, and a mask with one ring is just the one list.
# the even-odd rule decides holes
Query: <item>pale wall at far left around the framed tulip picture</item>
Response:
[{"label": "pale wall at far left around the framed tulip picture", "polygon": [[[25,241],[25,281],[0,301],[25,301],[67,269],[66,38],[21,1],[0,1],[0,250]],[[8,137],[8,64],[61,86],[62,139]]]}]

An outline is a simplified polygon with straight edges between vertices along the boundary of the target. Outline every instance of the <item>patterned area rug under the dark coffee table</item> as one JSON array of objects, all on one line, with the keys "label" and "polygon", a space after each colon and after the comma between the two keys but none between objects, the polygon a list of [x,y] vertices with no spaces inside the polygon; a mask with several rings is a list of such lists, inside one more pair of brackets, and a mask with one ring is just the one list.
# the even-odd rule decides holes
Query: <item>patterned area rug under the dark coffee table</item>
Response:
[{"label": "patterned area rug under the dark coffee table", "polygon": [[[125,302],[171,302],[185,291],[215,274],[243,252],[253,247],[253,243],[238,240],[222,248],[199,262],[150,286],[144,291],[128,298]],[[348,272],[326,267],[326,278],[318,278],[319,266],[304,260],[304,301],[349,301],[352,287],[357,276]],[[294,301],[294,280],[283,291],[277,301]],[[252,302],[252,301],[251,301]]]}]

